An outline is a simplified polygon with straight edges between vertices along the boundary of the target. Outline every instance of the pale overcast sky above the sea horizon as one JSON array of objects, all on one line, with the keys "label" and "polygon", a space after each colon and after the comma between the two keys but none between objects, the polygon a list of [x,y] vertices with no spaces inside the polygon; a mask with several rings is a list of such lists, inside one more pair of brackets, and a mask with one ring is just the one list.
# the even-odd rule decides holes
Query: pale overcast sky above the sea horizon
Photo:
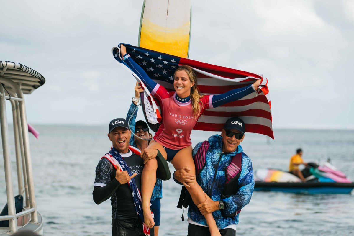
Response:
[{"label": "pale overcast sky above the sea horizon", "polygon": [[[126,116],[135,79],[110,49],[137,45],[142,4],[1,2],[0,60],[46,79],[25,97],[29,123]],[[268,78],[274,128],[354,128],[353,0],[193,0],[191,34],[190,59]]]}]

